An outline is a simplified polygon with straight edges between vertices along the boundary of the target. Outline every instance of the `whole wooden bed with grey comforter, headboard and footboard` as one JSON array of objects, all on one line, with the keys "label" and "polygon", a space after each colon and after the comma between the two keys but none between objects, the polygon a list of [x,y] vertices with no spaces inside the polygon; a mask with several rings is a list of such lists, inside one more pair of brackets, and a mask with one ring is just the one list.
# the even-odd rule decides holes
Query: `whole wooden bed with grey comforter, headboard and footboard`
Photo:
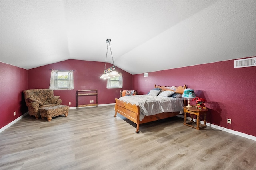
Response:
[{"label": "whole wooden bed with grey comforter, headboard and footboard", "polygon": [[[168,86],[156,86],[155,85],[155,89],[157,89],[157,88],[161,89],[162,92],[170,90],[170,91],[175,92],[175,94],[183,94],[184,89],[186,89],[186,85],[184,85],[183,87],[182,86],[168,87]],[[114,117],[116,117],[117,113],[119,113],[120,115],[123,115],[130,121],[136,123],[137,127],[136,127],[135,133],[140,133],[140,131],[139,131],[140,124],[179,115],[183,111],[183,106],[185,106],[184,100],[182,100],[181,98],[176,98],[175,101],[178,101],[178,105],[179,105],[179,106],[177,106],[178,108],[176,108],[176,106],[167,106],[168,109],[160,108],[160,109],[156,109],[158,112],[156,111],[155,113],[152,113],[153,111],[148,111],[148,112],[150,112],[150,114],[144,115],[145,114],[144,106],[142,106],[142,104],[140,102],[134,101],[134,98],[138,98],[139,101],[144,100],[144,99],[140,99],[140,96],[144,96],[146,98],[150,98],[150,100],[153,100],[153,98],[150,95],[124,96],[119,99],[116,98],[116,105],[115,105]],[[131,100],[130,100],[130,98],[131,98]],[[169,97],[170,99],[167,99],[166,97],[159,97],[159,96],[154,96],[154,98],[157,98],[157,100],[160,100],[159,98],[163,98],[164,102],[168,102],[168,100],[173,100],[170,97]],[[128,101],[130,101],[130,102],[128,102]],[[162,102],[160,102],[160,103],[162,104]],[[174,102],[174,103],[177,103],[177,102]],[[156,103],[154,103],[154,104],[156,105]],[[151,105],[151,107],[153,108],[155,106],[154,104],[147,104],[147,105]],[[175,108],[174,111],[169,112],[169,110],[172,110],[172,109],[170,109],[170,107],[174,107]],[[154,109],[155,108],[156,107],[154,107]],[[161,111],[161,112],[159,112],[159,111]]]}]

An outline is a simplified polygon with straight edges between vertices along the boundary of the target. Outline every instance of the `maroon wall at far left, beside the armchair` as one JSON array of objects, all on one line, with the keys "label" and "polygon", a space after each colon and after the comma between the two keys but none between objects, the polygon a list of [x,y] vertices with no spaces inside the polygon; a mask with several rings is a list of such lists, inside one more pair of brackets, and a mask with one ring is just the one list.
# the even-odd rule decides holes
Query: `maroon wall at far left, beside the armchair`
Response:
[{"label": "maroon wall at far left, beside the armchair", "polygon": [[27,88],[28,70],[0,62],[0,128],[28,111],[22,93]]}]

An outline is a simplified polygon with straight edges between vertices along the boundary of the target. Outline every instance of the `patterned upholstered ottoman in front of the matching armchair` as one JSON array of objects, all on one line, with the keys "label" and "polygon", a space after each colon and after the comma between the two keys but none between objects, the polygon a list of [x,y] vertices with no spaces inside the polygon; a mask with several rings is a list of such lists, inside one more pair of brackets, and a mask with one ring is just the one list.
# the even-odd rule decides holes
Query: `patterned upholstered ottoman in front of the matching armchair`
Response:
[{"label": "patterned upholstered ottoman in front of the matching armchair", "polygon": [[43,107],[40,109],[41,118],[47,118],[47,121],[51,121],[52,117],[65,115],[68,116],[69,106],[66,105],[57,105],[57,106],[50,106],[50,107]]}]

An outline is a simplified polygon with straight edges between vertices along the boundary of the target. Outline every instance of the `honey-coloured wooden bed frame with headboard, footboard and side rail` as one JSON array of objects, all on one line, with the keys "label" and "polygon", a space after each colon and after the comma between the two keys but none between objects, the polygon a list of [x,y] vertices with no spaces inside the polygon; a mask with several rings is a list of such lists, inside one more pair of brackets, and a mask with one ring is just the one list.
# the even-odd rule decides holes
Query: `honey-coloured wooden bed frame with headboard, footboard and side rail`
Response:
[{"label": "honey-coloured wooden bed frame with headboard, footboard and side rail", "polygon": [[[166,88],[165,86],[156,86],[155,85],[155,88],[161,88],[162,90],[171,90],[171,89]],[[175,90],[172,90],[172,91],[175,91],[175,93],[183,94],[184,89],[186,89],[186,85],[184,85],[184,87],[182,87],[182,86],[175,87]],[[184,103],[184,106],[185,106],[185,103]],[[140,124],[142,124],[142,123],[148,123],[148,122],[152,122],[152,121],[179,115],[179,112],[164,112],[164,113],[159,113],[156,115],[145,116],[144,119],[142,119],[142,121],[140,121],[140,106],[137,106],[135,104],[132,105],[130,103],[123,102],[116,98],[115,115],[113,117],[116,117],[117,112],[120,115],[123,115],[130,121],[137,124],[135,133],[140,133],[139,127],[140,127]]]}]

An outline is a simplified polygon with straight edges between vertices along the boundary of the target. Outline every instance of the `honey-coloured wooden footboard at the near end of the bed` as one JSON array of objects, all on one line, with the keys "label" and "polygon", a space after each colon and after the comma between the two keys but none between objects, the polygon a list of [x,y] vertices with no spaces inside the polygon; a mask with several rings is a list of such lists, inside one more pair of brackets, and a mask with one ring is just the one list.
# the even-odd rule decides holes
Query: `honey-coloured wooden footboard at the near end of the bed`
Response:
[{"label": "honey-coloured wooden footboard at the near end of the bed", "polygon": [[116,113],[119,113],[120,115],[123,115],[130,121],[136,123],[137,128],[135,133],[140,133],[139,126],[140,126],[140,106],[136,106],[135,104],[130,104],[123,102],[121,100],[118,100],[116,98],[116,105],[115,105],[115,115]]}]

